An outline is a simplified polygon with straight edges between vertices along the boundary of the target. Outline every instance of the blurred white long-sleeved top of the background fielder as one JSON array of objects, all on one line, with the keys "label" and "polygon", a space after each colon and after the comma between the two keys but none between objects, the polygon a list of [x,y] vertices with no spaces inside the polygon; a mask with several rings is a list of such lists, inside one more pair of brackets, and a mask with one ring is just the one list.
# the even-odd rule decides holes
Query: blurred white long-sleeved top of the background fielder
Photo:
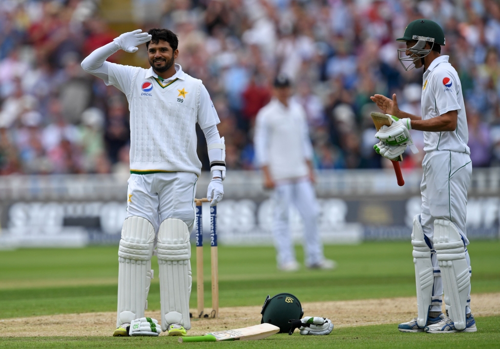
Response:
[{"label": "blurred white long-sleeved top of the background fielder", "polygon": [[308,175],[305,160],[312,158],[312,145],[303,107],[291,99],[288,107],[271,99],[257,113],[254,146],[257,164],[268,165],[274,180]]}]

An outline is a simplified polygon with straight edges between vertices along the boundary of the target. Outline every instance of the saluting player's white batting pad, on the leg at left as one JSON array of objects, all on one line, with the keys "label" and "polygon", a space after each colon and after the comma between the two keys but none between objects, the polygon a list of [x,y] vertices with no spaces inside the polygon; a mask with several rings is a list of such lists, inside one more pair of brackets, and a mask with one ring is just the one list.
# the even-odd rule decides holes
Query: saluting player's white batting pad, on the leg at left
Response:
[{"label": "saluting player's white batting pad, on the leg at left", "polygon": [[149,290],[154,228],[145,218],[123,222],[118,249],[118,309],[116,326],[144,317]]}]

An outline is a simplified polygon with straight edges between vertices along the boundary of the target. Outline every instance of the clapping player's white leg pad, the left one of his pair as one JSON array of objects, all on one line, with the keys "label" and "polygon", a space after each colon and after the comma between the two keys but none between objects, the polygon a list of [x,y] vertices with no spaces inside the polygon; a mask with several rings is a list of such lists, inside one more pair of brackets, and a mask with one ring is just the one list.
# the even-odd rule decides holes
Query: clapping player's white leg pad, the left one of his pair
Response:
[{"label": "clapping player's white leg pad, the left one of his pair", "polygon": [[416,323],[420,327],[427,325],[427,315],[432,302],[432,285],[434,269],[430,259],[430,248],[424,240],[419,214],[413,217],[411,244],[413,245],[413,263],[415,263],[416,306],[418,317]]}]

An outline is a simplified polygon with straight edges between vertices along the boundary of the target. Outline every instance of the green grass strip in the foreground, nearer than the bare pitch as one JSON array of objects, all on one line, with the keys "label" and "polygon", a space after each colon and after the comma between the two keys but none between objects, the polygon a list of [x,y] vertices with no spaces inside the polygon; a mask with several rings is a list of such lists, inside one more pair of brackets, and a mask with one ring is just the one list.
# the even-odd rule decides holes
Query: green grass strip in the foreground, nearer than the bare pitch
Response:
[{"label": "green grass strip in the foreground, nearer than the bare pitch", "polygon": [[500,346],[500,316],[477,319],[475,333],[401,333],[394,325],[334,328],[329,335],[305,336],[294,333],[275,334],[263,340],[179,343],[175,337],[0,337],[0,348],[165,348],[177,347],[245,347],[245,348],[497,348]]}]

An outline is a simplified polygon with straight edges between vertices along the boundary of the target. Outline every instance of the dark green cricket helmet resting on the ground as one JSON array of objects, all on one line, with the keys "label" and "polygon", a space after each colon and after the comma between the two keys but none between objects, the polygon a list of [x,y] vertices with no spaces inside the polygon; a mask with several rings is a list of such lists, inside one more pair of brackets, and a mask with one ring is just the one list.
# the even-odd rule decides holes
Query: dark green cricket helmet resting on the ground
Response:
[{"label": "dark green cricket helmet resting on the ground", "polygon": [[279,333],[288,333],[290,319],[302,318],[304,311],[297,297],[291,293],[278,293],[272,298],[267,296],[262,305],[260,323],[271,323],[279,327]]}]

